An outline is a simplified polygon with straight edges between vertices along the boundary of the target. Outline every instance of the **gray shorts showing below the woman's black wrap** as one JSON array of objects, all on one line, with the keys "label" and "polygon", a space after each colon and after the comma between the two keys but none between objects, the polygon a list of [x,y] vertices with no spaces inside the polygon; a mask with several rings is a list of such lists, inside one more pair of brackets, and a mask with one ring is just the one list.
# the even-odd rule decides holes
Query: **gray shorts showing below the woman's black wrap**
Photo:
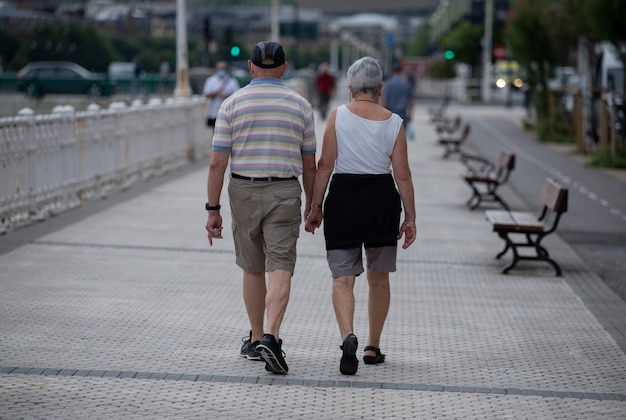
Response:
[{"label": "gray shorts showing below the woman's black wrap", "polygon": [[[367,268],[375,273],[393,273],[397,254],[397,246],[365,248]],[[361,248],[331,249],[326,251],[326,259],[333,278],[359,276],[364,271]]]}]

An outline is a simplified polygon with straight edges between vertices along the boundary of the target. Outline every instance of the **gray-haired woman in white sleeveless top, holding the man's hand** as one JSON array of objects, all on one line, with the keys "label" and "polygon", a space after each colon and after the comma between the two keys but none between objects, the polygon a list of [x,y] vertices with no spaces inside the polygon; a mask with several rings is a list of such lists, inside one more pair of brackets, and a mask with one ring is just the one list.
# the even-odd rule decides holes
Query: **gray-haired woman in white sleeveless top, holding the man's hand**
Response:
[{"label": "gray-haired woman in white sleeveless top, holding the man's hand", "polygon": [[324,220],[333,307],[343,340],[339,371],[354,375],[359,363],[354,284],[364,271],[362,248],[369,285],[369,337],[363,361],[378,364],[385,361],[380,338],[389,311],[389,273],[396,271],[397,241],[404,237],[402,248],[408,248],[415,241],[416,226],[402,119],[378,104],[382,69],[374,58],[363,57],[350,66],[347,77],[354,102],[329,114],[305,229],[314,233]]}]

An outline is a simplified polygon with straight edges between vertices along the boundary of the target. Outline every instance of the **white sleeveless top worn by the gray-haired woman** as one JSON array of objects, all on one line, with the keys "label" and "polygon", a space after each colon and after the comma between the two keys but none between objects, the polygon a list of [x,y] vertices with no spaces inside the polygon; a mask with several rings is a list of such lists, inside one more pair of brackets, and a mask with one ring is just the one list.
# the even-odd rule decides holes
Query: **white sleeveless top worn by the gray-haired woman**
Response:
[{"label": "white sleeveless top worn by the gray-haired woman", "polygon": [[337,108],[337,174],[391,173],[391,153],[398,138],[402,118],[396,114],[385,121],[359,117],[345,106]]}]

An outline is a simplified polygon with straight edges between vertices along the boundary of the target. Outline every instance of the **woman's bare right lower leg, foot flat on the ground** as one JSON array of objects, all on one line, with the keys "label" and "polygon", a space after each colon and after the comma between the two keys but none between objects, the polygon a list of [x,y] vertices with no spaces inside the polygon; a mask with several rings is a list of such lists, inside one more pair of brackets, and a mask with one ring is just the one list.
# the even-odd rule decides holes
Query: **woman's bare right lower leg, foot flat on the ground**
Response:
[{"label": "woman's bare right lower leg, foot flat on the ground", "polygon": [[[367,345],[380,348],[380,336],[385,326],[391,301],[389,273],[375,273],[368,268],[367,282],[369,284],[368,317],[370,326]],[[365,355],[376,356],[376,352],[367,350]]]}]

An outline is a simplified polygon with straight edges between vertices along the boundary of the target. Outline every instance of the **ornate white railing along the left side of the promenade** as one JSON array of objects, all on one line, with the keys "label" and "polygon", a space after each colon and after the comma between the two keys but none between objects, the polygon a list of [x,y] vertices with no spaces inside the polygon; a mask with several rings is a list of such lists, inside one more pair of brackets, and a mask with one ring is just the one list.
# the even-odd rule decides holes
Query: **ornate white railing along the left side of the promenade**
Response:
[{"label": "ornate white railing along the left side of the promenade", "polygon": [[210,154],[200,98],[0,118],[0,233]]}]

